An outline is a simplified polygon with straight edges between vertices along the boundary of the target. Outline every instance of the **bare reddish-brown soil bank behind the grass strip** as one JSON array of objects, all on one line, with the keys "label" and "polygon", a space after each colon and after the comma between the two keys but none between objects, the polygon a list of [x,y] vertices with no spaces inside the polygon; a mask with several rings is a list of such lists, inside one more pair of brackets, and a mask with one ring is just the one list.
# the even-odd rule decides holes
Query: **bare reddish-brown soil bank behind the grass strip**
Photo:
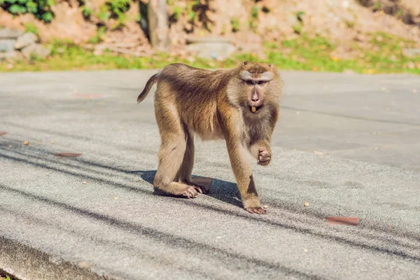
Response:
[{"label": "bare reddish-brown soil bank behind the grass strip", "polygon": [[[95,16],[105,2],[87,1],[94,12],[87,20],[83,18],[78,1],[59,0],[53,7],[55,18],[49,24],[35,20],[29,14],[13,18],[0,10],[0,26],[25,30],[25,25],[31,22],[38,28],[41,42],[68,39],[93,48],[88,41],[103,25],[107,31],[102,37],[102,44],[113,45],[113,48],[138,56],[153,52],[147,34],[136,21],[140,3],[148,1],[133,1],[127,12],[125,27],[116,30],[113,30],[116,19],[102,22]],[[174,5],[168,7],[168,16],[172,19],[170,36],[173,52],[183,51],[179,46],[186,44],[188,36],[223,36],[230,38],[239,50],[261,56],[263,41],[279,42],[300,34],[328,38],[338,46],[334,55],[341,58],[358,55],[357,48],[370,48],[370,34],[375,32],[400,36],[420,45],[420,28],[416,21],[404,22],[395,14],[385,13],[386,4],[395,4],[395,1],[383,2],[383,9],[375,9],[372,1],[364,0],[201,0],[202,5],[195,10],[195,20],[189,20],[186,13],[174,20],[176,6],[186,10],[188,3],[186,0],[174,1]],[[420,22],[418,0],[400,0],[398,5],[412,19],[419,18]],[[257,18],[251,15],[253,6],[258,8]],[[300,15],[301,21],[297,15]],[[235,21],[236,25],[232,23]]]}]

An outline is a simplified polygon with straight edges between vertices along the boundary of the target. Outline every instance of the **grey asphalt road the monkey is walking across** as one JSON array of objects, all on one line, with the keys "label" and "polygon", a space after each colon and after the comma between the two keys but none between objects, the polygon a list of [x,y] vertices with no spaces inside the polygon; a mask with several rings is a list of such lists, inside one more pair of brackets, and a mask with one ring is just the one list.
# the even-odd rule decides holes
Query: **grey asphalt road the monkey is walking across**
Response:
[{"label": "grey asphalt road the monkey is walking across", "polygon": [[153,94],[136,103],[153,73],[0,74],[0,269],[22,280],[420,279],[420,76],[282,71],[272,164],[252,162],[269,207],[257,216],[241,209],[223,141],[196,140],[209,195],[153,194]]}]

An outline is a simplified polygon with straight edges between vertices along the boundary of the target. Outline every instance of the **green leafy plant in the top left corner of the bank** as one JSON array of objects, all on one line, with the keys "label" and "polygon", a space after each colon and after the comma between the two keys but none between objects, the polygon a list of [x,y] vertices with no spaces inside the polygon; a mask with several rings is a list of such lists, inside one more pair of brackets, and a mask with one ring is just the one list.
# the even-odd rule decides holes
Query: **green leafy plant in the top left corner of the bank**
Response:
[{"label": "green leafy plant in the top left corner of the bank", "polygon": [[51,22],[54,0],[0,0],[0,7],[13,15],[31,13],[36,19]]}]

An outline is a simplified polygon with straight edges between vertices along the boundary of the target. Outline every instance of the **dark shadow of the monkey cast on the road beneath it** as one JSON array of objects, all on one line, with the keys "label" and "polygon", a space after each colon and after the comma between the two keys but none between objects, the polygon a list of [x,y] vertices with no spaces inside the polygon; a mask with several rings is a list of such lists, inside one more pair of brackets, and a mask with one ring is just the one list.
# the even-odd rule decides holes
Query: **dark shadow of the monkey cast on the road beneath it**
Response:
[{"label": "dark shadow of the monkey cast on the road beneath it", "polygon": [[[150,171],[139,170],[139,171],[133,171],[130,173],[140,174],[141,179],[152,184],[153,179],[155,178],[155,175],[156,175],[156,170],[150,170]],[[199,176],[193,175],[193,178],[194,177],[199,177]],[[170,196],[156,189],[154,189],[153,193],[155,195]],[[239,198],[240,195],[239,195],[239,191],[238,191],[236,183],[213,179],[210,185],[210,193],[207,195],[209,195],[210,197],[216,198],[216,200],[221,200],[223,202],[230,203],[237,207],[242,207],[242,202]]]}]

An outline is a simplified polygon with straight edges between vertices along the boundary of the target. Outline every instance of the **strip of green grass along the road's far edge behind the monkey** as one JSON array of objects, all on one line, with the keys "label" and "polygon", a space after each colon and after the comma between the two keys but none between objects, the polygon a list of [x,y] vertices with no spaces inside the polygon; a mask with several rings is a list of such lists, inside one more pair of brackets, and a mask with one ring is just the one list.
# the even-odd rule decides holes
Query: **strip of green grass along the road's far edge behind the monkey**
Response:
[{"label": "strip of green grass along the road's far edge behind the monkey", "polygon": [[[332,71],[351,70],[356,73],[417,73],[420,74],[420,57],[409,59],[402,55],[402,48],[414,45],[410,41],[383,33],[371,34],[372,45],[377,48],[358,49],[363,57],[357,59],[339,59],[331,53],[337,48],[325,38],[309,38],[305,34],[293,40],[281,43],[264,44],[267,59],[255,55],[235,55],[223,62],[207,59],[179,59],[166,54],[152,57],[126,57],[104,52],[96,56],[92,51],[85,50],[71,42],[56,41],[52,43],[52,57],[34,59],[30,63],[16,62],[10,68],[7,62],[0,62],[0,71],[58,71],[58,70],[95,70],[95,69],[159,69],[163,66],[183,62],[201,68],[230,68],[239,61],[260,61],[276,64],[280,69],[302,71]],[[407,65],[414,65],[409,69]]]}]

